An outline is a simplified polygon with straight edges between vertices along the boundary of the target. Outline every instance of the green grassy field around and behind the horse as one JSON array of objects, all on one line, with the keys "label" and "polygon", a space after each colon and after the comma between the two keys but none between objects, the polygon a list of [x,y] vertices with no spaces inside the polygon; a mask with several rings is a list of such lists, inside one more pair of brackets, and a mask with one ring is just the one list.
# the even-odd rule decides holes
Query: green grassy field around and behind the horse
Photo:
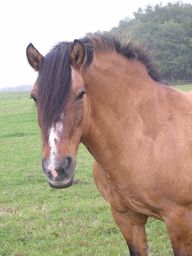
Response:
[{"label": "green grassy field around and behind the horse", "polygon": [[[88,183],[67,189],[48,185],[29,94],[0,93],[0,256],[129,255],[110,206],[94,185],[93,158],[83,145],[74,179]],[[163,222],[149,218],[146,231],[152,256],[173,255]]]}]

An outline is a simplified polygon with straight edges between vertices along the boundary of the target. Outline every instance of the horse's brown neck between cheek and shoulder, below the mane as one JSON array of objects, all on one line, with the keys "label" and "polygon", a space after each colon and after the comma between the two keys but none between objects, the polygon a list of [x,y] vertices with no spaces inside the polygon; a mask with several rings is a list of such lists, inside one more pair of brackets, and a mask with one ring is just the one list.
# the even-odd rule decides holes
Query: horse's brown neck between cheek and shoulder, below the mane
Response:
[{"label": "horse's brown neck between cheek and shoulder, below the mane", "polygon": [[[91,108],[89,132],[83,143],[108,169],[114,158],[129,150],[127,147],[133,150],[145,122],[144,131],[155,139],[150,127],[158,131],[154,116],[159,88],[141,63],[118,54],[113,58],[111,54],[100,55],[89,72],[82,72]],[[163,118],[163,113],[160,116]]]}]

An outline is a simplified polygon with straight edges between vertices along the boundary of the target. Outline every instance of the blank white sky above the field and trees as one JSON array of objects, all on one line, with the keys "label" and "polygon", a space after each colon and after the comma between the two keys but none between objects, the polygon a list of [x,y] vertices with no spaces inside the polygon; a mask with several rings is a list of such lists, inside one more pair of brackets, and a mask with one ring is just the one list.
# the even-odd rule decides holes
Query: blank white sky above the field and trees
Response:
[{"label": "blank white sky above the field and trees", "polygon": [[[163,5],[167,2],[162,0]],[[132,18],[139,7],[159,3],[158,0],[1,1],[0,88],[34,84],[37,73],[26,58],[29,43],[45,55],[59,41],[73,41],[98,29],[109,30],[125,16]]]}]

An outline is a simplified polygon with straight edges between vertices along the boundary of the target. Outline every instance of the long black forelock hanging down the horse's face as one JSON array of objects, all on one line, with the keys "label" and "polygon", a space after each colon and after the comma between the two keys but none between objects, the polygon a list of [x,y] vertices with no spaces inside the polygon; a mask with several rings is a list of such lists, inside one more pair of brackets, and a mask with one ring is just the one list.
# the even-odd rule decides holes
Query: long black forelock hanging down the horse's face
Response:
[{"label": "long black forelock hanging down the horse's face", "polygon": [[62,113],[71,88],[70,44],[62,44],[46,54],[37,78],[38,109],[47,138]]}]

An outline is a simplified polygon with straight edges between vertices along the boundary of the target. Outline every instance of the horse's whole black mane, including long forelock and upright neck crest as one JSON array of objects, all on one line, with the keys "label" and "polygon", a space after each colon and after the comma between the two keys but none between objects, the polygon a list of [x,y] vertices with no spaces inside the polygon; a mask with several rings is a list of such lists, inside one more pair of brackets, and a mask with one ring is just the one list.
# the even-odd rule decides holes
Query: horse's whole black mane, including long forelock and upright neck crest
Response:
[{"label": "horse's whole black mane, including long forelock and upright neck crest", "polygon": [[[87,34],[80,41],[86,49],[85,68],[92,63],[95,52],[116,51],[127,59],[140,61],[156,82],[167,84],[166,81],[161,81],[152,51],[144,44],[100,33]],[[45,137],[52,125],[58,121],[70,93],[72,46],[73,42],[60,42],[55,45],[46,54],[39,68],[37,98]]]}]

